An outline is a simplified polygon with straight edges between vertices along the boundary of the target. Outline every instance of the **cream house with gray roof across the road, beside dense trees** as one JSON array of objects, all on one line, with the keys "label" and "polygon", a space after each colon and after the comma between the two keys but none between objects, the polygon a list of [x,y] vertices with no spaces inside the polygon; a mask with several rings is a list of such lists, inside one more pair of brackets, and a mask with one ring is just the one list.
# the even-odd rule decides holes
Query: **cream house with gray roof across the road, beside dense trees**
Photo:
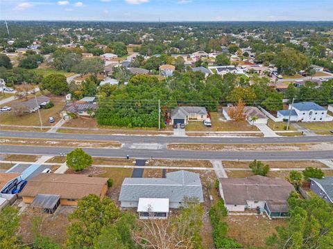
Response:
[{"label": "cream house with gray roof across the road, beside dense trees", "polygon": [[207,120],[205,107],[176,107],[171,111],[171,124],[188,124],[189,121]]}]

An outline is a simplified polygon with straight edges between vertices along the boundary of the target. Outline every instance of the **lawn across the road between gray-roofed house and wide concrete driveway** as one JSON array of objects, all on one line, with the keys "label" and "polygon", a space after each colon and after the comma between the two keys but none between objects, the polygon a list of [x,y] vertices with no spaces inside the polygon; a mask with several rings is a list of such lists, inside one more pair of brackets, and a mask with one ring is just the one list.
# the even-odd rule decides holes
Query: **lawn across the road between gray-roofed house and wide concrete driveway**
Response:
[{"label": "lawn across the road between gray-roofed house and wide concrete driveway", "polygon": [[186,126],[186,131],[258,131],[257,127],[250,125],[247,121],[234,122],[225,121],[222,113],[210,113],[212,127],[205,127],[203,122],[191,121]]}]

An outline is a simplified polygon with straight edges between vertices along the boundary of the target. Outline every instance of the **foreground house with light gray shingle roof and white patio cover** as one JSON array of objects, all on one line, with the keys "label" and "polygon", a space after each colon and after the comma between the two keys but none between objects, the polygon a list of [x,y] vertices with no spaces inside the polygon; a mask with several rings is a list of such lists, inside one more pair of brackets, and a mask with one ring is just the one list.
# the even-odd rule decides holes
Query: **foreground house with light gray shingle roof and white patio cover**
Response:
[{"label": "foreground house with light gray shingle roof and white patio cover", "polygon": [[180,170],[167,173],[165,178],[125,178],[121,185],[119,201],[121,208],[139,207],[139,212],[143,212],[139,203],[149,203],[151,211],[155,212],[154,208],[161,210],[158,199],[163,202],[167,199],[169,208],[179,208],[186,197],[197,198],[203,203],[203,187],[199,174]]}]

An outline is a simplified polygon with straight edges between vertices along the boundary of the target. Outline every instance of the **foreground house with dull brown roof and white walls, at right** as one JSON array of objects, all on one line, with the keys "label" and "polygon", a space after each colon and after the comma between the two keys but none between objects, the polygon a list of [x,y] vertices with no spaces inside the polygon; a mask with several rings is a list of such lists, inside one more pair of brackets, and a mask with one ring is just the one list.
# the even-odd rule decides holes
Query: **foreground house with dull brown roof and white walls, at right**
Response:
[{"label": "foreground house with dull brown roof and white walls, at right", "polygon": [[282,178],[249,176],[219,178],[219,190],[228,211],[257,209],[271,218],[289,216],[287,199],[293,185]]}]

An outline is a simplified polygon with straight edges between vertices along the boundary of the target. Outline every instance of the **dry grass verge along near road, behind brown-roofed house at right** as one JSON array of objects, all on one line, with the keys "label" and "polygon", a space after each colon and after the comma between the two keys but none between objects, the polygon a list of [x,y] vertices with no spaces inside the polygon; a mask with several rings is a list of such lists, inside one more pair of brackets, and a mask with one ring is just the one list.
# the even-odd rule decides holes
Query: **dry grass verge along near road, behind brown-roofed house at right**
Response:
[{"label": "dry grass verge along near road, behind brown-roofed house at right", "polygon": [[[323,167],[327,168],[327,166],[318,161],[292,161],[292,160],[274,160],[274,161],[262,161],[264,164],[268,164],[271,168],[305,168],[305,167]],[[225,168],[243,168],[248,169],[248,165],[250,161],[223,161],[223,166]]]}]

